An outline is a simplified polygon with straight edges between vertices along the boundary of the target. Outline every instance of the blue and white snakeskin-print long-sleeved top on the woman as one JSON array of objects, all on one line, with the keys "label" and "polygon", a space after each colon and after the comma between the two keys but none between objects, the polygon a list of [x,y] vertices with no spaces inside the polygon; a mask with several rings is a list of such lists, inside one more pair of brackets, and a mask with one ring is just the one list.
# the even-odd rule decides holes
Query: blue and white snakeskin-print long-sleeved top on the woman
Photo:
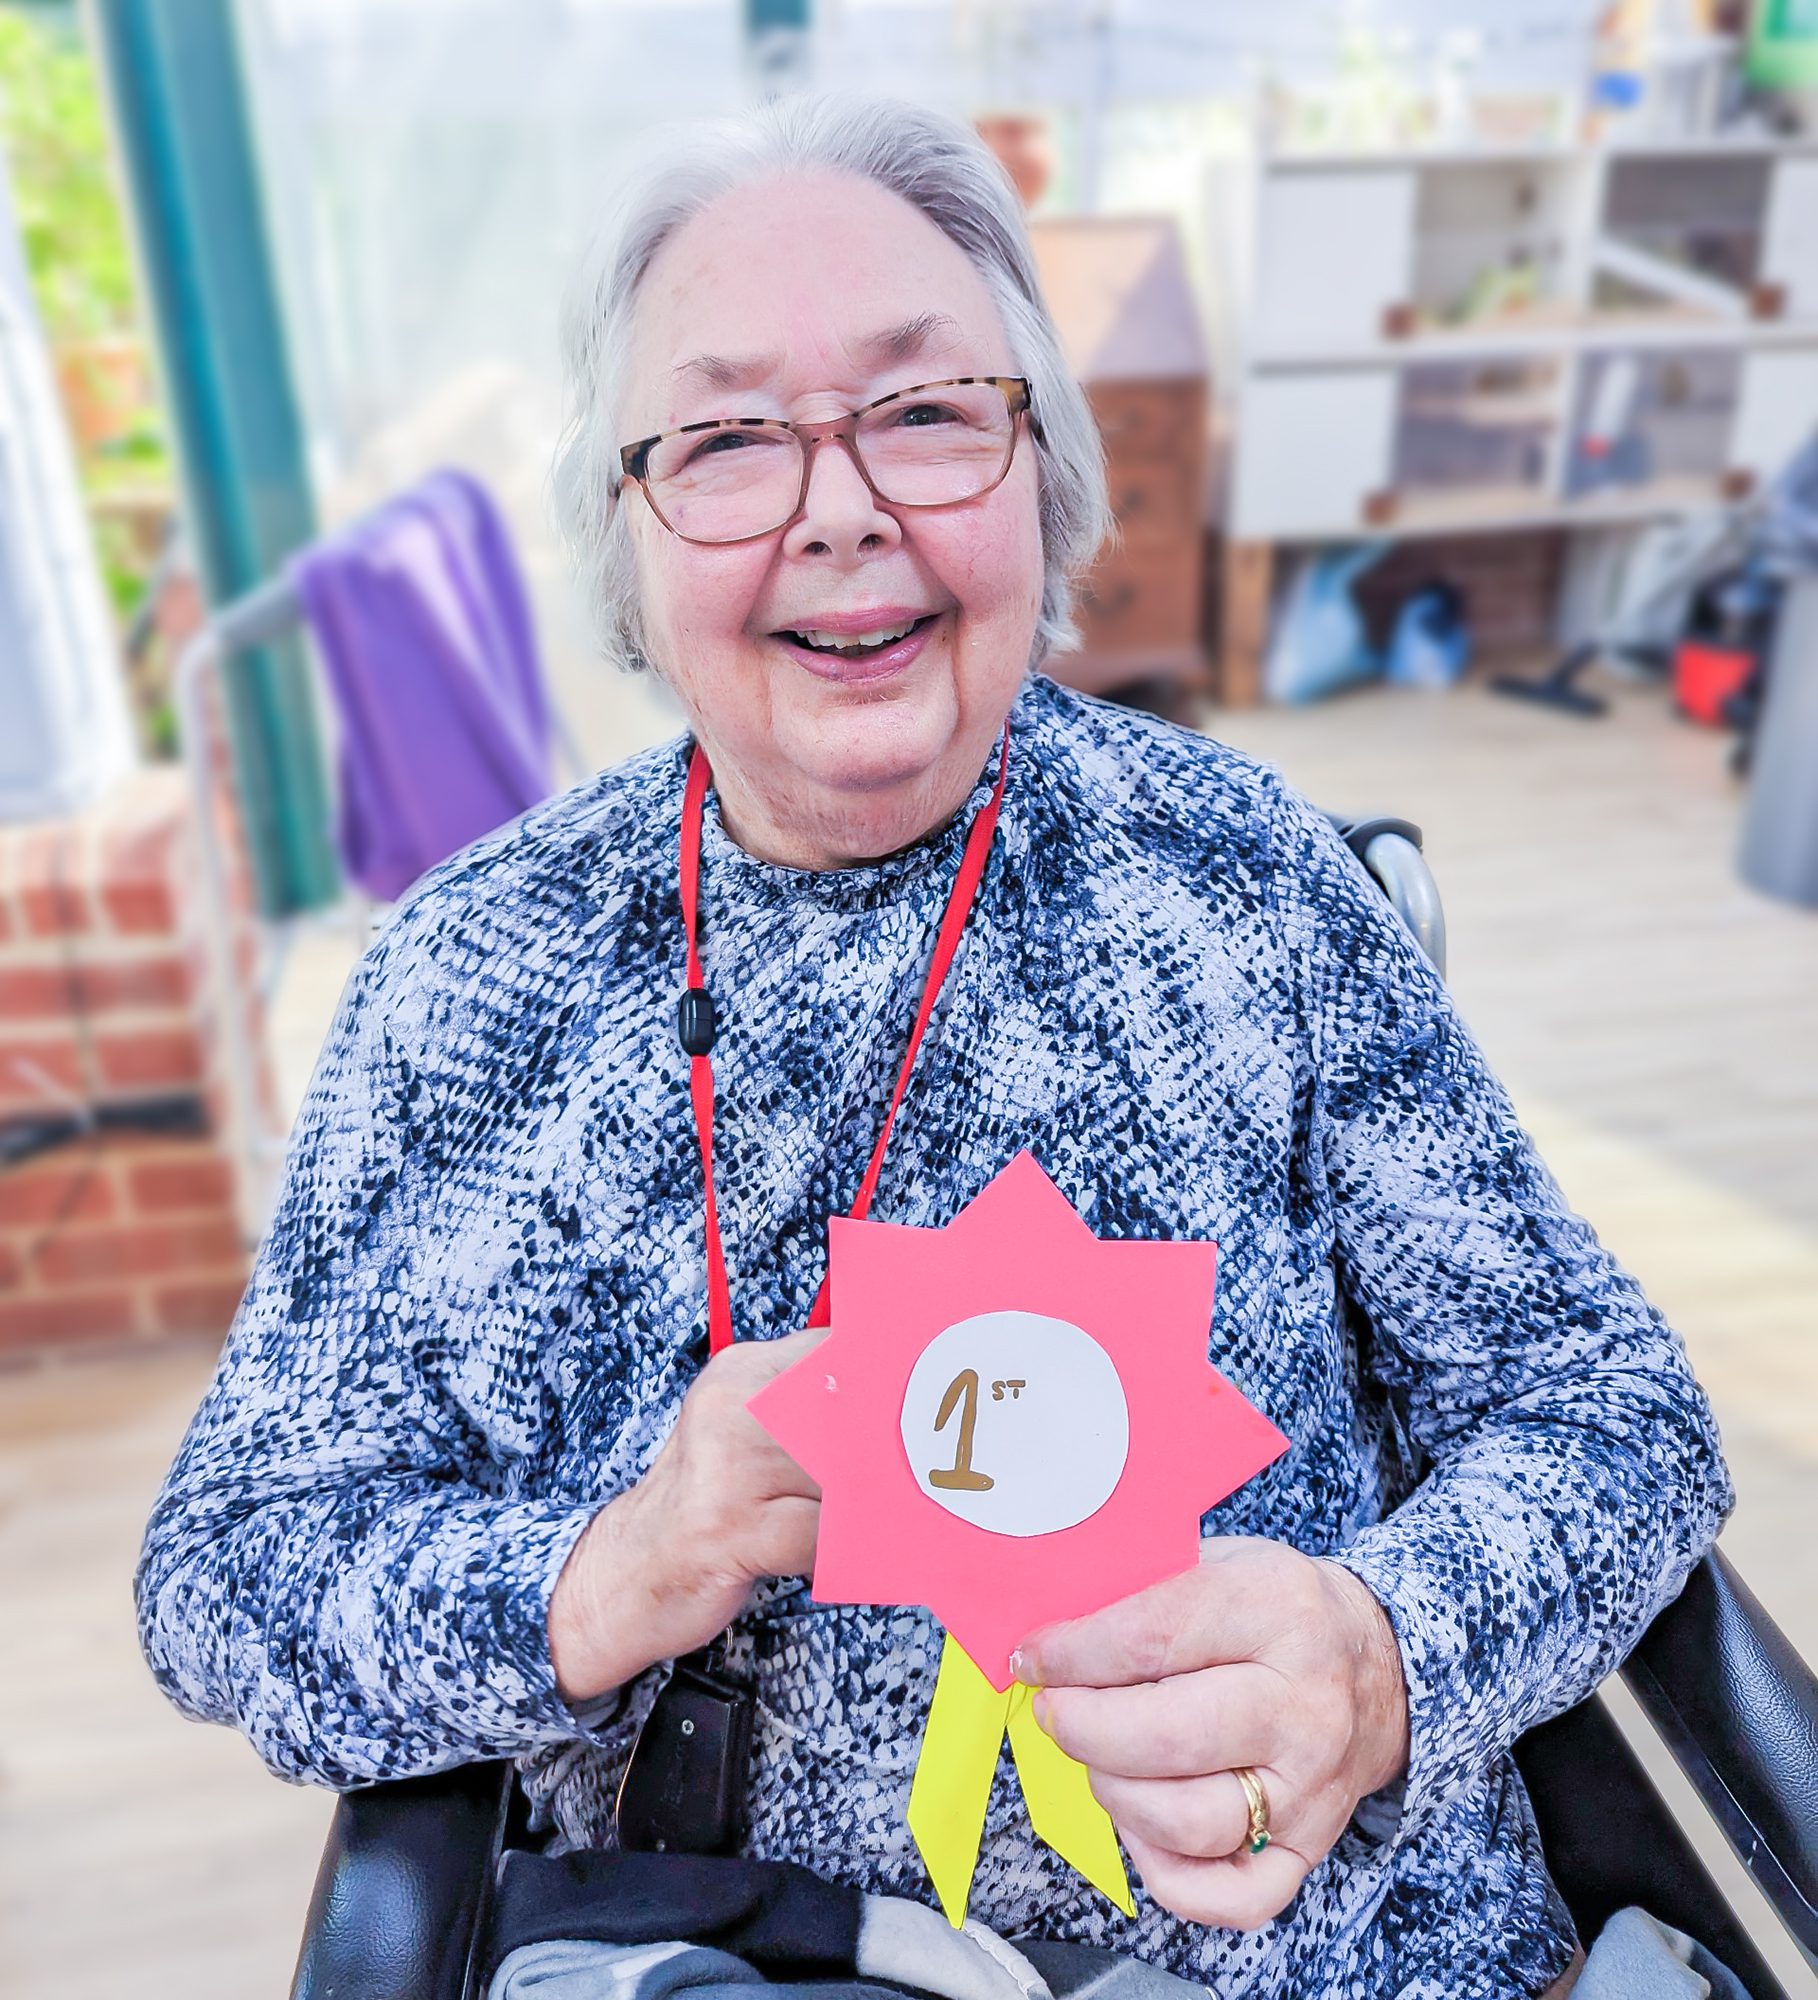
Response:
[{"label": "blue and white snakeskin-print long-sleeved top on the woman", "polygon": [[[158,1498],[142,1644],[290,1778],[522,1760],[610,1842],[656,1674],[582,1728],[562,1560],[706,1358],[674,1004],[686,744],[430,874],[356,968],[276,1220]],[[802,872],[710,796],[704,952],[734,1318],[802,1326],[864,1170],[972,810]],[[1292,1450],[1206,1516],[1336,1554],[1400,1636],[1412,1762],[1254,1934],[1132,1920],[1008,1768],[972,1910],[1220,1996],[1534,1994],[1570,1918],[1508,1758],[1592,1688],[1730,1506],[1674,1334],[1550,1180],[1448,994],[1326,822],[1202,736],[1032,678],[960,956],[878,1190],[940,1224],[1020,1148],[1100,1236],[1216,1238],[1210,1354]],[[904,1824],[938,1630],[764,1588],[754,1854],[932,1900]]]}]

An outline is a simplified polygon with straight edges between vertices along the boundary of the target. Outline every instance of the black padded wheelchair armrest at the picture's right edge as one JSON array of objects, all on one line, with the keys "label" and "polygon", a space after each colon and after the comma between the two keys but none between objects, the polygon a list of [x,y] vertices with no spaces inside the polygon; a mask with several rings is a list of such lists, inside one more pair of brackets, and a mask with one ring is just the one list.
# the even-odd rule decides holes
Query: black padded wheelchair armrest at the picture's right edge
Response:
[{"label": "black padded wheelchair armrest at the picture's right edge", "polygon": [[1744,1868],[1818,1960],[1818,1680],[1710,1554],[1622,1670]]}]

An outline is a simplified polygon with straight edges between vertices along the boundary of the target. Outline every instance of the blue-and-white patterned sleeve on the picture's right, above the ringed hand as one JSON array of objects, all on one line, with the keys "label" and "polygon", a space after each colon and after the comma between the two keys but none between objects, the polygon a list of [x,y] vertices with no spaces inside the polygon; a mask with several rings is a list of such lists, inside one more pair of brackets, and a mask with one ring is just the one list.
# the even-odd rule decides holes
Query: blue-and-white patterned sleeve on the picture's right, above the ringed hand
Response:
[{"label": "blue-and-white patterned sleeve on the picture's right, above the ringed hand", "polygon": [[1336,1558],[1400,1638],[1406,1834],[1624,1658],[1732,1492],[1678,1338],[1566,1206],[1388,902],[1288,794],[1274,880],[1338,1280],[1418,1476]]}]

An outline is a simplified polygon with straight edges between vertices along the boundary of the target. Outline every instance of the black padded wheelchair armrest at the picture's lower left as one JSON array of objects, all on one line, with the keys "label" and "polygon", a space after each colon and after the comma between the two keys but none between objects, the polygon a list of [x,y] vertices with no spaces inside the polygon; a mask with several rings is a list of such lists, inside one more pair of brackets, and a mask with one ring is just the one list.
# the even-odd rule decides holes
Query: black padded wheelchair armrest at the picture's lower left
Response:
[{"label": "black padded wheelchair armrest at the picture's lower left", "polygon": [[290,2000],[468,2000],[516,1768],[342,1794]]}]

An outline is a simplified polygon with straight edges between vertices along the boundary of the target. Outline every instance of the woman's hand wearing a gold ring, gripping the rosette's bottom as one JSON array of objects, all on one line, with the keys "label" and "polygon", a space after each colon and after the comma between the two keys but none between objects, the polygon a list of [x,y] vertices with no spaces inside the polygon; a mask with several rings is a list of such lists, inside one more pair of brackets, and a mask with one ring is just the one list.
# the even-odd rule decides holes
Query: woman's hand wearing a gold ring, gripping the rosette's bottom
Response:
[{"label": "woman's hand wearing a gold ring, gripping the rosette's bottom", "polygon": [[[1144,1888],[1196,1924],[1278,1916],[1360,1798],[1408,1762],[1394,1628],[1332,1562],[1208,1540],[1200,1566],[1016,1654],[1036,1718],[1092,1774]],[[1248,1766],[1270,1806],[1250,1854]]]}]

